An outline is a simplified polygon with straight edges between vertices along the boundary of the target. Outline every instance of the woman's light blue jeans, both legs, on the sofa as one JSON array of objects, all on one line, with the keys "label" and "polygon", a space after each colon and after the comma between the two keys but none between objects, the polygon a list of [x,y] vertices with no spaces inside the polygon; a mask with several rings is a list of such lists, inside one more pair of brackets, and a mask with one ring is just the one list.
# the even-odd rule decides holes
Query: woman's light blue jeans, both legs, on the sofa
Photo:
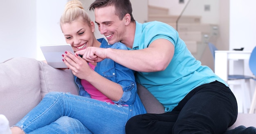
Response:
[{"label": "woman's light blue jeans, both legs, on the sofa", "polygon": [[[144,108],[120,106],[63,92],[50,92],[15,126],[25,133],[125,133],[128,119],[143,114]],[[71,121],[72,122],[71,122]],[[68,123],[70,121],[70,123]],[[63,125],[64,124],[64,125]]]}]

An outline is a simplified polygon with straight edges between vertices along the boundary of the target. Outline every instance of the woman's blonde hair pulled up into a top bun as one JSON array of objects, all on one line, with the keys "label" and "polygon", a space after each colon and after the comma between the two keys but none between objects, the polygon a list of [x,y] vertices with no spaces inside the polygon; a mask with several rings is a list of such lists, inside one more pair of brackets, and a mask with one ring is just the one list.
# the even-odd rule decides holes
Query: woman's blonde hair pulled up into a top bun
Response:
[{"label": "woman's blonde hair pulled up into a top bun", "polygon": [[71,23],[79,17],[82,17],[84,22],[90,25],[91,19],[83,9],[83,4],[79,0],[71,0],[67,2],[65,6],[65,11],[61,16],[60,24]]}]

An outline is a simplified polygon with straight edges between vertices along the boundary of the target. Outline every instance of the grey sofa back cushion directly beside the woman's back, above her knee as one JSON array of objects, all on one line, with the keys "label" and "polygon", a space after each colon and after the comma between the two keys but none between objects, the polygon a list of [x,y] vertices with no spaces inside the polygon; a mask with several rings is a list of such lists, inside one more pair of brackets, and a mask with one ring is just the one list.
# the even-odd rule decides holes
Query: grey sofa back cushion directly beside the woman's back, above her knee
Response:
[{"label": "grey sofa back cushion directly beside the woman's back, above her knee", "polygon": [[78,86],[74,82],[74,75],[70,69],[55,69],[43,61],[40,66],[41,99],[49,92],[70,92],[78,95]]}]

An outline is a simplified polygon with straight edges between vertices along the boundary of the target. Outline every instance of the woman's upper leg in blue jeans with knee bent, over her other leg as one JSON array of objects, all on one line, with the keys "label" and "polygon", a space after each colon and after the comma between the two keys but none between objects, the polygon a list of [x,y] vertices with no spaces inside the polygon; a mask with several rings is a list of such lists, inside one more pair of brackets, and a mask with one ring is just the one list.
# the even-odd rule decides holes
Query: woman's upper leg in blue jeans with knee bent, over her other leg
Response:
[{"label": "woman's upper leg in blue jeans with knee bent, over her other leg", "polygon": [[[129,108],[70,93],[50,92],[15,126],[29,133],[62,116],[78,119],[92,133],[124,133]],[[129,114],[130,115],[130,114]]]}]

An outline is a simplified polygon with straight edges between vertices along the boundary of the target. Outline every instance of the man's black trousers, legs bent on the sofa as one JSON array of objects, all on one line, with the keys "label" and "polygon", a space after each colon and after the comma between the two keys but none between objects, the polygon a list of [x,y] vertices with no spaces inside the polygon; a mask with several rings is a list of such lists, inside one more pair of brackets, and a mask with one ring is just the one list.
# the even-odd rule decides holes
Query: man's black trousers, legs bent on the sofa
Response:
[{"label": "man's black trousers, legs bent on the sofa", "polygon": [[132,117],[126,134],[222,134],[237,114],[234,94],[215,81],[193,89],[171,112]]}]

